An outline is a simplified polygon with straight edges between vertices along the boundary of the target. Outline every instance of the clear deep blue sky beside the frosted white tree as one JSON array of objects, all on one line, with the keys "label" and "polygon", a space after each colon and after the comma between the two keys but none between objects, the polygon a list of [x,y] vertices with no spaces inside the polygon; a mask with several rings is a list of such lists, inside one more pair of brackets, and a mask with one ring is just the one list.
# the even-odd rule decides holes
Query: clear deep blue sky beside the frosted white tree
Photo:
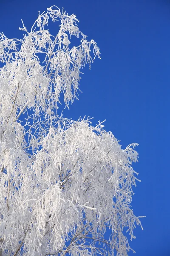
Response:
[{"label": "clear deep blue sky beside the frosted white tree", "polygon": [[[0,31],[20,38],[21,18],[29,29],[38,11],[51,5],[76,14],[79,28],[101,49],[85,68],[79,101],[65,116],[104,120],[121,145],[139,143],[141,183],[133,210],[144,231],[130,245],[136,256],[169,256],[170,248],[170,1],[169,0],[0,0]],[[132,253],[129,254],[130,256]]]}]

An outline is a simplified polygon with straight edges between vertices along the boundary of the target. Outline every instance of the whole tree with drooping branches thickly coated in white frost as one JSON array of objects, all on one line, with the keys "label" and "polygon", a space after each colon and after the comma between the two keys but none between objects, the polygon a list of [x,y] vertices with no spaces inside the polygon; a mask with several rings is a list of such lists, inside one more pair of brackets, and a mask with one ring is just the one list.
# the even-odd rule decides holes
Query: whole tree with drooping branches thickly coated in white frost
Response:
[{"label": "whole tree with drooping branches thickly coated in white frost", "polygon": [[[60,21],[57,35],[49,19]],[[127,256],[123,230],[132,239],[141,225],[130,207],[136,144],[122,149],[102,123],[57,111],[61,97],[66,107],[77,98],[80,70],[100,53],[77,22],[52,6],[30,31],[23,23],[23,39],[0,33],[2,256]]]}]

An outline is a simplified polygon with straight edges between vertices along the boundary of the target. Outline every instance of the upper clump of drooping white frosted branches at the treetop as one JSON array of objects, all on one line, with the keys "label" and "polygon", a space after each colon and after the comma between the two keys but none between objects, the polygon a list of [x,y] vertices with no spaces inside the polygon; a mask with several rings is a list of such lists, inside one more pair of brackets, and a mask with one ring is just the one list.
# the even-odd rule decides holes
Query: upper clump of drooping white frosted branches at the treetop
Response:
[{"label": "upper clump of drooping white frosted branches at the treetop", "polygon": [[[56,36],[44,28],[49,18],[60,20]],[[23,25],[23,39],[8,39],[0,34],[0,102],[6,102],[0,106],[0,113],[5,122],[18,119],[26,108],[37,114],[51,114],[58,108],[61,93],[67,107],[77,98],[80,69],[93,62],[92,46],[94,58],[100,53],[94,40],[87,41],[79,31],[77,21],[75,15],[61,13],[54,6],[39,15],[31,32]],[[80,37],[80,45],[69,48],[71,36]]]}]

